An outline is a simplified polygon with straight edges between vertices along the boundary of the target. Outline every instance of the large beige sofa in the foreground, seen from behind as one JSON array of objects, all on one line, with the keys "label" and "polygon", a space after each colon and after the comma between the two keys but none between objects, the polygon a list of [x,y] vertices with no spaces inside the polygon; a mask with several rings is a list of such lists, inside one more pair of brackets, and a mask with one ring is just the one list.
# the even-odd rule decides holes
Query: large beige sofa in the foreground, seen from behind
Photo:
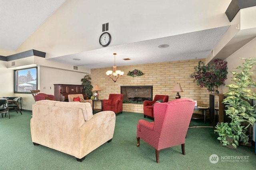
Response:
[{"label": "large beige sofa in the foreground, seen from behind", "polygon": [[78,161],[113,138],[113,111],[92,114],[90,103],[42,100],[32,106],[30,120],[34,145],[75,156]]}]

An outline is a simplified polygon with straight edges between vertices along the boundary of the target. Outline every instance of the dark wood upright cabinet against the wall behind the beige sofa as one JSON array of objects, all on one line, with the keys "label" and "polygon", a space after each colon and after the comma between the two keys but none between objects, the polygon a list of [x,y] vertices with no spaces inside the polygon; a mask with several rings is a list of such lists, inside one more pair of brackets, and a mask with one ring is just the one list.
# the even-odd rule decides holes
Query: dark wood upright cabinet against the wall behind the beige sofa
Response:
[{"label": "dark wood upright cabinet against the wall behind the beige sofa", "polygon": [[[83,94],[82,85],[54,84],[54,97],[56,101],[68,101],[70,94]],[[86,95],[84,95],[86,98]]]}]

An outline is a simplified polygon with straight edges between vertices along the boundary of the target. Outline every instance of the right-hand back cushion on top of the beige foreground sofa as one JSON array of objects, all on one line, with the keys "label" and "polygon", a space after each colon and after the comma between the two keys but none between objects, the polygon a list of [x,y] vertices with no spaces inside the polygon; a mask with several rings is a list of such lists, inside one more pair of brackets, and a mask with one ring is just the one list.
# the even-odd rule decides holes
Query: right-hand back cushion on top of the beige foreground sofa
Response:
[{"label": "right-hand back cushion on top of the beige foreground sofa", "polygon": [[88,102],[80,103],[80,102],[63,102],[63,101],[59,101],[59,102],[56,103],[55,106],[71,107],[71,108],[82,109],[82,113],[84,115],[84,121],[89,121],[93,117],[92,107],[91,107],[91,104],[88,103]]}]

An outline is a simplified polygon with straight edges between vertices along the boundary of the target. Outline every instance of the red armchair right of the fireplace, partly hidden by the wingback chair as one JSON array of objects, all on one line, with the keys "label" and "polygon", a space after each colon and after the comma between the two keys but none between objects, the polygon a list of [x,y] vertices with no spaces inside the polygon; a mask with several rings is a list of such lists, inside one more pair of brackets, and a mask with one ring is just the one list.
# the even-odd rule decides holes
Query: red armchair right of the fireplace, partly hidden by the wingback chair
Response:
[{"label": "red armchair right of the fireplace, partly hidden by the wingback chair", "polygon": [[153,104],[156,103],[156,101],[162,100],[162,103],[168,102],[169,96],[168,95],[155,95],[153,101],[144,101],[143,102],[143,113],[144,117],[154,117],[153,112]]}]

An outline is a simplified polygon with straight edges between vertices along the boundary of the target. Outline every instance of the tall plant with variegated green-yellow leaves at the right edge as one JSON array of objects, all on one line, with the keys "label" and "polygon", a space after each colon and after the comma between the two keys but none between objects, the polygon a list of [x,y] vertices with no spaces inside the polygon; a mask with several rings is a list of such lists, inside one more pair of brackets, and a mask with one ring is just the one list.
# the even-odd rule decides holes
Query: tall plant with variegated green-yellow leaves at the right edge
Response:
[{"label": "tall plant with variegated green-yellow leaves at the right edge", "polygon": [[256,93],[251,88],[256,87],[256,82],[252,81],[252,72],[249,72],[256,65],[256,57],[245,59],[243,66],[236,69],[240,71],[231,71],[232,81],[226,85],[228,92],[222,103],[227,107],[226,115],[231,119],[229,123],[218,123],[216,130],[223,146],[232,146],[237,148],[239,142],[248,144],[249,136],[247,135],[248,127],[256,121],[256,105],[251,106],[248,100],[256,99]]}]

